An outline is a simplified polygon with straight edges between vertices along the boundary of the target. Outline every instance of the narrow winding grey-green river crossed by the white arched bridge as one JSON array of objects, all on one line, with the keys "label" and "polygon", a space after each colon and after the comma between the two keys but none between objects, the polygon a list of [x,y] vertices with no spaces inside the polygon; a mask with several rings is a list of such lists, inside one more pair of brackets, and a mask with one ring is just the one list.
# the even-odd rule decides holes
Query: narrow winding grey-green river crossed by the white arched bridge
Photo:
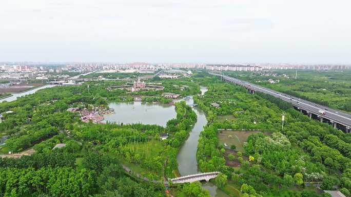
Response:
[{"label": "narrow winding grey-green river crossed by the white arched bridge", "polygon": [[[204,95],[205,92],[207,91],[207,88],[201,87],[200,90],[201,90],[201,95]],[[186,99],[185,101],[188,105],[193,104],[192,99]],[[203,127],[207,124],[207,119],[203,111],[200,110],[200,108],[194,107],[193,110],[198,116],[198,120],[194,124],[190,132],[189,138],[184,142],[177,157],[178,171],[181,174],[181,176],[200,173],[198,171],[198,162],[196,160],[196,153],[198,149],[198,141],[200,138],[200,133],[202,132]],[[203,185],[203,188],[207,189],[210,192],[211,196],[229,197],[229,195],[224,193],[222,190],[218,189],[217,186],[213,185],[212,183],[206,183],[205,185]]]}]

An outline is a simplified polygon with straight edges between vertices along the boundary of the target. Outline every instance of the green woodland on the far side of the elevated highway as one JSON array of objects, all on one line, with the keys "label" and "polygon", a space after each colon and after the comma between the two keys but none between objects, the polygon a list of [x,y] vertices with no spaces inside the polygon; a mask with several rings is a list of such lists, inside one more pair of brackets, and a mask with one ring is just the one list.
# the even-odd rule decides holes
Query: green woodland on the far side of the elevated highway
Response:
[{"label": "green woodland on the far side of the elevated highway", "polygon": [[[351,112],[351,70],[298,70],[297,79],[296,70],[225,73],[272,90]],[[279,82],[269,83],[268,79]]]}]

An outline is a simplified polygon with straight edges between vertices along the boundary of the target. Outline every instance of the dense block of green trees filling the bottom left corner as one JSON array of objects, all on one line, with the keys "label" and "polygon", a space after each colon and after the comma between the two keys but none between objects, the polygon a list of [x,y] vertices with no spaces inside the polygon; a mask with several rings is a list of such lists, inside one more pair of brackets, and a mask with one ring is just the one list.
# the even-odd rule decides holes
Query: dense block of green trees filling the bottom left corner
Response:
[{"label": "dense block of green trees filling the bottom left corner", "polygon": [[88,196],[95,191],[95,176],[70,167],[0,168],[0,196]]}]

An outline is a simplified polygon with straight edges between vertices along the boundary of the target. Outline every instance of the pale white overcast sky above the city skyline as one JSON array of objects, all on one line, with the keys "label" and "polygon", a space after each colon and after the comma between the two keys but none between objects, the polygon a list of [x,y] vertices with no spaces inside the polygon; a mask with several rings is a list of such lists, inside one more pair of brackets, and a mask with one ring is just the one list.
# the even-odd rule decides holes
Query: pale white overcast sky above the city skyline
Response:
[{"label": "pale white overcast sky above the city skyline", "polygon": [[351,63],[349,0],[0,0],[0,61]]}]

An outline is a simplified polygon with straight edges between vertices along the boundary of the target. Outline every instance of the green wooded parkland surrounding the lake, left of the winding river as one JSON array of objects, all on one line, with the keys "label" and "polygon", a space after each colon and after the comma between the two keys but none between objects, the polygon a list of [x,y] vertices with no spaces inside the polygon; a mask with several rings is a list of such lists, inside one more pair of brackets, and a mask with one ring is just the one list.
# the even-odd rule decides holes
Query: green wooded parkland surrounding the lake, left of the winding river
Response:
[{"label": "green wooded parkland surrounding the lake, left of the winding river", "polygon": [[[84,123],[76,113],[66,111],[128,101],[132,95],[153,96],[143,99],[151,102],[163,101],[161,94],[166,91],[181,95],[200,91],[189,79],[160,82],[164,91],[107,91],[106,87],[123,82],[101,81],[56,86],[0,103],[1,112],[13,111],[4,113],[0,123],[1,136],[9,135],[2,154],[35,150],[30,156],[0,159],[0,196],[164,196],[161,182],[175,177],[178,148],[197,118],[191,107],[184,101],[175,103],[177,117],[167,127]],[[188,88],[180,90],[182,85]],[[160,133],[169,133],[169,138],[160,141]],[[58,143],[66,146],[52,150]],[[132,165],[130,172],[124,164]]]}]

